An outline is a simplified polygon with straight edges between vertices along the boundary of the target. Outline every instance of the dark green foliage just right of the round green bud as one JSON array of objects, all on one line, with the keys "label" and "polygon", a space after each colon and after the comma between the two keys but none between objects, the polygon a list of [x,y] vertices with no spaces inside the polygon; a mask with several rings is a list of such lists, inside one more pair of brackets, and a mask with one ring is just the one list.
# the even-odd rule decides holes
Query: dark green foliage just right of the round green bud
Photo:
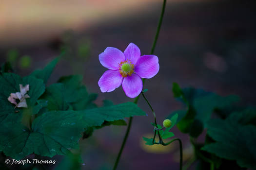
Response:
[{"label": "dark green foliage just right of the round green bud", "polygon": [[216,109],[225,108],[239,100],[234,95],[221,97],[195,88],[181,89],[177,83],[173,84],[173,93],[174,97],[184,102],[187,108],[185,115],[185,111],[177,111],[182,118],[179,118],[177,127],[181,132],[189,133],[193,137],[197,137],[202,133],[205,123],[211,118]]}]

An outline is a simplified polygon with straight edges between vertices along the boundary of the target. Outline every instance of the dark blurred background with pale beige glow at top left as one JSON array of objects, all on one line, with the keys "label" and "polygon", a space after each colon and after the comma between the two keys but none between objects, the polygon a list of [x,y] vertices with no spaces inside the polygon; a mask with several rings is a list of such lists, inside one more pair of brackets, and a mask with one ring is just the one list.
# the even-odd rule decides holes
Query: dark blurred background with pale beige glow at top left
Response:
[{"label": "dark blurred background with pale beige glow at top left", "polygon": [[[105,99],[115,104],[132,101],[121,87],[100,92],[98,79],[106,69],[98,54],[106,47],[124,51],[130,42],[141,54],[149,54],[161,5],[162,0],[1,0],[0,63],[9,61],[25,76],[64,50],[49,84],[63,75],[82,74],[89,92],[98,93],[98,105]],[[237,94],[242,102],[255,104],[255,17],[255,0],[167,0],[155,50],[160,70],[144,86],[158,122],[182,107],[173,97],[173,82],[220,95]],[[153,136],[153,116],[144,100],[138,105],[149,116],[134,118],[118,169],[177,170],[177,143],[144,145],[142,136]],[[110,126],[81,140],[83,169],[111,170],[125,130]],[[189,136],[176,127],[174,133],[183,140],[186,162],[193,153]],[[54,157],[58,162],[62,158]],[[196,164],[190,170],[194,169]]]}]

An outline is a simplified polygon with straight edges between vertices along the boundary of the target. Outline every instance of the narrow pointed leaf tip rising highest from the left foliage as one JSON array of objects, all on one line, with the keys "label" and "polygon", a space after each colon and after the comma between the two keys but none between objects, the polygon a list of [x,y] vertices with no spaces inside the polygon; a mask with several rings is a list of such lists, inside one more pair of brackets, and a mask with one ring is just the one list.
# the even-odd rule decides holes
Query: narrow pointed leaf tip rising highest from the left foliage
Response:
[{"label": "narrow pointed leaf tip rising highest from the left foliage", "polygon": [[43,82],[46,84],[47,80],[49,79],[49,77],[51,75],[51,73],[53,72],[53,69],[55,68],[55,66],[59,62],[59,59],[60,59],[61,56],[62,56],[62,54],[59,57],[56,57],[55,59],[53,59],[53,61],[51,61],[50,63],[48,63],[45,68],[37,69],[34,72],[32,72],[30,75],[35,76],[39,79],[42,79]]}]

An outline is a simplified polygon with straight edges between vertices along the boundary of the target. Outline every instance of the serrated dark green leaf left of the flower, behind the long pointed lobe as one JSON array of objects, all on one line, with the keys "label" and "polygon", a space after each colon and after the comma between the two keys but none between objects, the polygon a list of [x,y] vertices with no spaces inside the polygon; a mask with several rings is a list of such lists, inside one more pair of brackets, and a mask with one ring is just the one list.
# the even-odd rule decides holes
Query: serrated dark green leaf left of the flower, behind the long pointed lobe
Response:
[{"label": "serrated dark green leaf left of the flower, behind the long pointed lobe", "polygon": [[61,77],[58,82],[48,86],[41,97],[48,101],[49,110],[83,110],[96,107],[93,101],[97,94],[88,94],[86,87],[81,85],[81,75]]}]

